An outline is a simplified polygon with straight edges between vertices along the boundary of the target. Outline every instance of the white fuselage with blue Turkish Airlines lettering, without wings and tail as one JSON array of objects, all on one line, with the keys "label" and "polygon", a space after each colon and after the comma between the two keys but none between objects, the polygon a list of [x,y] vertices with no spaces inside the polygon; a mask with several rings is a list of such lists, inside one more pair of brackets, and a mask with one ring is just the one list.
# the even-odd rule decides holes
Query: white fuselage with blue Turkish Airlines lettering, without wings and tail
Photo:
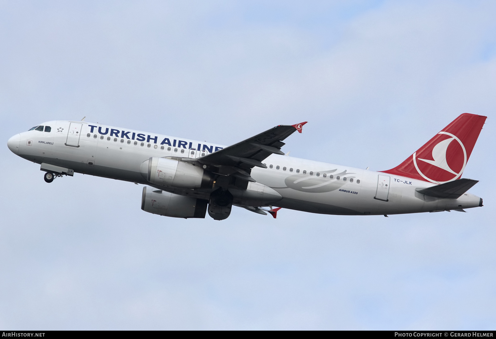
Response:
[{"label": "white fuselage with blue Turkish Airlines lettering, without wings and tail", "polygon": [[[81,127],[68,138],[71,122]],[[142,164],[151,157],[199,158],[225,147],[85,121],[48,121],[43,125],[51,126],[51,132],[22,132],[10,138],[8,147],[38,164],[142,184],[150,184],[142,174]],[[425,196],[415,189],[433,183],[372,170],[281,155],[271,155],[263,163],[267,169],[255,167],[251,177],[282,196],[270,205],[294,210],[388,215],[472,208],[481,201],[469,193],[458,199]],[[184,190],[171,192],[187,194]]]}]

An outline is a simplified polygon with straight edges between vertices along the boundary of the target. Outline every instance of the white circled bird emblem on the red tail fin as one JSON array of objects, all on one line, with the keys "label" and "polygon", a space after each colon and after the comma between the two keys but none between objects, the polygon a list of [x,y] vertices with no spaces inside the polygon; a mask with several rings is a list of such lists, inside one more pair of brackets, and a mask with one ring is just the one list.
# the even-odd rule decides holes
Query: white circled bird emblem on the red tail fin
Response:
[{"label": "white circled bird emblem on the red tail fin", "polygon": [[[447,138],[447,139],[443,139],[443,140],[439,141],[436,145],[434,145],[432,150],[425,150],[427,152],[429,152],[429,151],[432,152],[432,158],[434,160],[417,158],[417,152],[415,152],[413,154],[413,163],[415,165],[415,169],[417,169],[417,172],[424,179],[426,179],[430,182],[433,182],[433,183],[443,183],[443,182],[448,182],[451,180],[458,179],[462,175],[462,173],[465,169],[465,166],[467,165],[467,151],[465,150],[465,146],[463,145],[461,140],[458,137],[456,137],[454,134],[451,134],[449,132],[439,132],[437,134],[445,134],[445,135],[450,136],[451,138]],[[458,159],[455,159],[454,161],[452,160],[451,163],[448,164],[448,160],[446,159],[446,153],[448,151],[448,146],[450,146],[450,144],[453,140],[456,140],[458,142],[458,144],[460,145],[461,149],[463,150],[463,164],[461,163],[461,157],[459,157]],[[423,156],[425,158],[427,158],[427,155],[429,155],[429,154],[428,153],[426,154],[425,151],[423,150],[423,152],[421,152],[421,153],[423,153]],[[417,163],[417,161],[421,161],[422,163]],[[425,165],[426,163],[431,165],[431,166],[435,166],[439,169],[443,169],[444,171],[451,173],[450,176],[452,176],[452,177],[449,178],[448,180],[446,180],[448,178],[448,177],[446,177],[446,174],[447,174],[446,172],[440,171],[441,173],[439,173],[439,171],[432,171],[432,170],[429,170],[429,172],[432,173],[431,175],[434,175],[435,177],[428,177],[419,168],[419,164],[422,164],[422,165],[420,165],[420,167],[424,168],[426,166]],[[442,179],[441,179],[441,177],[442,177]]]}]

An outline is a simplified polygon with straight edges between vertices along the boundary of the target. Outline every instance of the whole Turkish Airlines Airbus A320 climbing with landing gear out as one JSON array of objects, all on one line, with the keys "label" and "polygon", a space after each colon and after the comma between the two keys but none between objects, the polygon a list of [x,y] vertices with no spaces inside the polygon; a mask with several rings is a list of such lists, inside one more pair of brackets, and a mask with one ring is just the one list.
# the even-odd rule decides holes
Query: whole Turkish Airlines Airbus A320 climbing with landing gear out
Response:
[{"label": "whole Turkish Airlines Airbus A320 climbing with landing gear out", "polygon": [[[330,215],[460,211],[483,206],[461,178],[486,116],[463,113],[393,169],[373,171],[290,157],[283,140],[302,122],[231,146],[76,120],[15,134],[8,148],[44,179],[83,173],[144,184],[141,209],[224,220],[232,206],[274,218],[280,208]],[[274,208],[277,207],[277,208]],[[269,209],[267,209],[269,208]]]}]

